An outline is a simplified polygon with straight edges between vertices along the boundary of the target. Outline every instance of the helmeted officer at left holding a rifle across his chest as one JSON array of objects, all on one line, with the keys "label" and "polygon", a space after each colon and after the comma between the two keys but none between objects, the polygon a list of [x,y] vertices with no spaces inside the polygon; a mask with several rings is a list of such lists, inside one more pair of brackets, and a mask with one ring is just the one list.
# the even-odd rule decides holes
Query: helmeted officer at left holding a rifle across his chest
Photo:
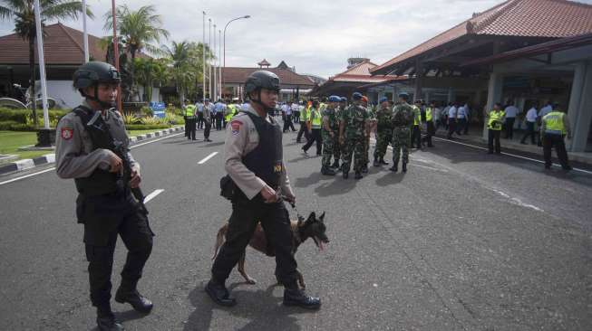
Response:
[{"label": "helmeted officer at left holding a rifle across his chest", "polygon": [[56,171],[61,178],[73,178],[79,193],[76,216],[84,224],[91,301],[100,330],[123,330],[110,304],[118,234],[128,256],[115,300],[141,313],[152,308],[136,288],[152,250],[153,233],[143,202],[131,194],[140,192],[140,165],[129,153],[123,119],[113,108],[120,81],[120,73],[109,63],[83,64],[74,72],[73,86],[85,100],[56,128]]}]

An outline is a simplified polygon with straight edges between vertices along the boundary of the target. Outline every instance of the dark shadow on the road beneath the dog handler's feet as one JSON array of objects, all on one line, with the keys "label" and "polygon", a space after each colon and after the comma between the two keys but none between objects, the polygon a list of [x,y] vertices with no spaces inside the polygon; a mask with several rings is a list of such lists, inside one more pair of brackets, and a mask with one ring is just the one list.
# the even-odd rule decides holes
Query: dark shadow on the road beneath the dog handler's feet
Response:
[{"label": "dark shadow on the road beneath the dog handler's feet", "polygon": [[[185,331],[209,330],[211,326],[214,309],[225,310],[228,314],[248,320],[245,326],[238,330],[300,330],[296,324],[294,314],[315,314],[314,311],[299,309],[296,307],[284,307],[281,304],[282,298],[274,297],[273,290],[276,285],[267,289],[246,289],[233,290],[232,294],[238,300],[235,307],[220,307],[213,303],[203,289],[203,285],[194,288],[189,292],[189,301],[195,310],[189,316]],[[234,283],[228,288],[239,288],[244,283]],[[219,324],[219,323],[217,323]]]}]

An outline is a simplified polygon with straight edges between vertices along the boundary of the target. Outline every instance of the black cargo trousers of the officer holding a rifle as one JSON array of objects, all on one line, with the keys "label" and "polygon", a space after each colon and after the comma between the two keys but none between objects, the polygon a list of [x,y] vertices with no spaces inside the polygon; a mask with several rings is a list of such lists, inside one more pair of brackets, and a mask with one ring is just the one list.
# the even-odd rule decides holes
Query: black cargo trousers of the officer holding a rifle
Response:
[{"label": "black cargo trousers of the officer holding a rifle", "polygon": [[152,236],[147,216],[139,210],[131,192],[86,197],[78,205],[83,215],[86,259],[92,306],[105,307],[111,299],[113,252],[117,235],[128,249],[121,271],[121,287],[133,290],[152,251]]}]

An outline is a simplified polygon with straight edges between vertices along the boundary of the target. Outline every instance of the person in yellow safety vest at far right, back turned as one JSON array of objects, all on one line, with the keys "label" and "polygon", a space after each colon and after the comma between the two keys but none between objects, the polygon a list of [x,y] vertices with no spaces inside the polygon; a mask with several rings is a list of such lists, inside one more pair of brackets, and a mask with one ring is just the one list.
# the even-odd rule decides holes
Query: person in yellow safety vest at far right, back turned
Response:
[{"label": "person in yellow safety vest at far right, back turned", "polygon": [[553,110],[542,118],[540,139],[543,142],[543,156],[545,157],[545,169],[551,168],[551,148],[555,152],[563,170],[571,170],[568,160],[568,152],[564,138],[571,139],[571,128],[566,113],[558,110],[559,105],[553,105]]}]

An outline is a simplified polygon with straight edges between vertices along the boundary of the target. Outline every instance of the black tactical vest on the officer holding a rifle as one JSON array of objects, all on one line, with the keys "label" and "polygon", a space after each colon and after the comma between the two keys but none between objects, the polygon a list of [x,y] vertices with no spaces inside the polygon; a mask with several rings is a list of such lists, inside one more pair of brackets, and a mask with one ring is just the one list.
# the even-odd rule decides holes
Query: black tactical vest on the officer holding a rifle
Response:
[{"label": "black tactical vest on the officer holding a rifle", "polygon": [[[101,130],[87,125],[93,115],[92,109],[79,106],[78,108],[73,109],[73,112],[82,120],[84,129],[88,132],[89,137],[91,137],[92,150],[94,151],[98,148],[103,148],[112,151],[112,144],[109,141],[109,137],[106,137]],[[106,123],[104,123],[104,126],[106,129],[109,129],[109,126]],[[92,172],[92,175],[88,177],[75,178],[74,183],[76,184],[76,190],[79,194],[95,196],[116,192],[118,187],[121,186],[121,181],[119,181],[119,179],[120,175],[96,168]]]}]

